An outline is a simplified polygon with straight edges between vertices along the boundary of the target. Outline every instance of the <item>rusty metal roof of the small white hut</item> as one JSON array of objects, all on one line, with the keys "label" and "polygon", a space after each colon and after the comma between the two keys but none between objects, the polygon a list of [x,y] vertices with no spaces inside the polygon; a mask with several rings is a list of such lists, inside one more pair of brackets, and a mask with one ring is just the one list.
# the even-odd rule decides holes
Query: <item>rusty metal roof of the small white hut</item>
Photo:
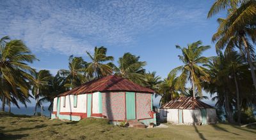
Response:
[{"label": "rusty metal roof of the small white hut", "polygon": [[177,97],[161,106],[162,109],[202,109],[213,108],[209,104],[195,99],[194,97]]}]

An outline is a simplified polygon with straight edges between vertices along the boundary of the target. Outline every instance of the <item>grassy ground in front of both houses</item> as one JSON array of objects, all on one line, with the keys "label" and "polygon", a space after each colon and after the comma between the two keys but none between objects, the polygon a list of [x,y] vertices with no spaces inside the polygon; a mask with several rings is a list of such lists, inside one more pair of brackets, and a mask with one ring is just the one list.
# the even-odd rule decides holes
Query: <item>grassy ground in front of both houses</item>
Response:
[{"label": "grassy ground in front of both houses", "polygon": [[62,122],[39,116],[0,113],[0,139],[256,139],[256,128],[218,123],[136,129],[109,125],[102,119]]}]

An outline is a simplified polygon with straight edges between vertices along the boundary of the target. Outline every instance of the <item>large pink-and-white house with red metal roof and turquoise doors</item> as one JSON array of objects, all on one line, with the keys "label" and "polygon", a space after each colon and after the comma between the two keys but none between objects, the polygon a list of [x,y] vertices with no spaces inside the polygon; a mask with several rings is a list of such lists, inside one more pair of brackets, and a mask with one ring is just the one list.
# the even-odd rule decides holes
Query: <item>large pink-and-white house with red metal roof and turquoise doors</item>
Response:
[{"label": "large pink-and-white house with red metal roof and turquoise doors", "polygon": [[106,76],[55,97],[52,118],[78,121],[94,117],[114,124],[124,120],[156,124],[153,93],[125,78]]}]

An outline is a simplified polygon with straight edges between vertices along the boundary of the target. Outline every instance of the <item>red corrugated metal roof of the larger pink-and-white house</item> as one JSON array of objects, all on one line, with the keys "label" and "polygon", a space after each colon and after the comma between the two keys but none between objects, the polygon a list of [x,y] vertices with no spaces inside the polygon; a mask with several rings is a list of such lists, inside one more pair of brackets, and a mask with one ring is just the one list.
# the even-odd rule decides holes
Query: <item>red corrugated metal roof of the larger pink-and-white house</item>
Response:
[{"label": "red corrugated metal roof of the larger pink-and-white house", "polygon": [[59,96],[111,91],[154,93],[154,90],[151,90],[150,88],[145,88],[125,78],[111,75],[84,83],[80,87],[64,92]]}]

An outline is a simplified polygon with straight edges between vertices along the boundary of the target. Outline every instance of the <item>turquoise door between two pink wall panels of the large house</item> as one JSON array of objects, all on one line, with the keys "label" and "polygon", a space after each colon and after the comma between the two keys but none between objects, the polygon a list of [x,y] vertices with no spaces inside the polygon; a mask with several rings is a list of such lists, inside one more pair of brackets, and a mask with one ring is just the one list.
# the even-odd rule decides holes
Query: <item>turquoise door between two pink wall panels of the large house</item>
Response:
[{"label": "turquoise door between two pink wall panels of the large house", "polygon": [[134,92],[126,92],[125,93],[125,99],[126,99],[126,119],[127,120],[134,120],[134,119],[136,119],[135,93]]}]

